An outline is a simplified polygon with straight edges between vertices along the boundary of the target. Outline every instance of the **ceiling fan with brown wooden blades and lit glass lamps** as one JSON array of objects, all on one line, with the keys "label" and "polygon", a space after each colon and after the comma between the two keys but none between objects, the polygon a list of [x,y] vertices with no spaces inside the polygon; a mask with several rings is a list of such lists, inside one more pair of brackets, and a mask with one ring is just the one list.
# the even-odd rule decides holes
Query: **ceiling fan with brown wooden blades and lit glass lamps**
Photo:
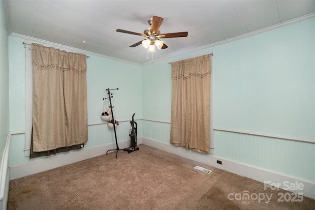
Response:
[{"label": "ceiling fan with brown wooden blades and lit glass lamps", "polygon": [[145,29],[143,33],[137,33],[137,32],[132,32],[128,30],[122,30],[122,29],[117,29],[117,32],[122,32],[122,33],[129,33],[129,34],[134,34],[134,35],[139,35],[139,36],[144,36],[146,39],[143,39],[133,45],[130,45],[129,47],[136,47],[140,44],[146,49],[148,49],[149,52],[154,52],[156,51],[155,46],[158,47],[158,49],[165,49],[167,48],[167,45],[164,44],[163,41],[160,39],[162,38],[175,38],[175,37],[186,37],[188,36],[188,32],[175,32],[175,33],[160,33],[159,28],[162,25],[163,18],[158,17],[158,16],[153,16],[153,18],[148,19],[148,23],[151,26],[148,29]]}]

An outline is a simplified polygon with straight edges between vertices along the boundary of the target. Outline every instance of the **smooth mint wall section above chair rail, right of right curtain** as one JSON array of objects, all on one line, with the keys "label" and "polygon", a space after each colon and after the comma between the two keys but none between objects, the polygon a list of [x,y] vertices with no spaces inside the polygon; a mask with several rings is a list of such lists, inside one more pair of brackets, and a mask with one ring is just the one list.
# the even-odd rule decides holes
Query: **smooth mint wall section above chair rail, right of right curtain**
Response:
[{"label": "smooth mint wall section above chair rail, right of right curtain", "polygon": [[315,139],[315,19],[218,46],[215,126]]}]

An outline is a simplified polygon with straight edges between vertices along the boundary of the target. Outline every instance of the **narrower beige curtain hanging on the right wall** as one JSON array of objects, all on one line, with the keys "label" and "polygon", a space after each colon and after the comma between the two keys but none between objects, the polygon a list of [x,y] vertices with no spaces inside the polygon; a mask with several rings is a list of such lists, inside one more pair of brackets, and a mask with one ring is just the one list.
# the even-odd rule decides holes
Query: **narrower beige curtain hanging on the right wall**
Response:
[{"label": "narrower beige curtain hanging on the right wall", "polygon": [[170,143],[209,151],[210,55],[172,63]]}]

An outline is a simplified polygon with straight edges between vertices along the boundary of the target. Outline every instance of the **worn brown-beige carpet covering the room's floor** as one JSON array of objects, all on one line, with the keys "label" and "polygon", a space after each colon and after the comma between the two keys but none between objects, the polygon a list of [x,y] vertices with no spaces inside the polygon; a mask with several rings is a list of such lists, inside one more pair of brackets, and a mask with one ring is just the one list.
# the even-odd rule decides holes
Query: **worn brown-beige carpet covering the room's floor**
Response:
[{"label": "worn brown-beige carpet covering the room's floor", "polygon": [[[279,202],[284,190],[162,150],[116,152],[11,180],[8,210],[315,209],[315,200]],[[212,173],[193,169],[202,166]],[[229,199],[243,195],[252,199]],[[255,199],[255,195],[271,196]],[[236,196],[238,198],[238,196]]]}]

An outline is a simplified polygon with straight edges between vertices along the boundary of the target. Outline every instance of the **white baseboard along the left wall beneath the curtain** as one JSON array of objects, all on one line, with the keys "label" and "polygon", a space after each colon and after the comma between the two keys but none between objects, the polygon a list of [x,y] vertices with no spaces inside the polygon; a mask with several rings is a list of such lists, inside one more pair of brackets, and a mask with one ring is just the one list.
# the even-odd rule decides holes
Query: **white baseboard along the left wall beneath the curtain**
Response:
[{"label": "white baseboard along the left wall beneath the curtain", "polygon": [[[120,141],[120,148],[129,147],[129,140]],[[141,138],[138,138],[138,144],[141,144]],[[116,143],[109,145],[102,145],[95,148],[72,150],[63,154],[56,154],[43,159],[37,159],[22,163],[19,165],[10,166],[10,180],[26,177],[39,172],[47,171],[50,169],[58,168],[71,163],[86,160],[92,157],[106,154],[107,150],[115,150]]]}]

